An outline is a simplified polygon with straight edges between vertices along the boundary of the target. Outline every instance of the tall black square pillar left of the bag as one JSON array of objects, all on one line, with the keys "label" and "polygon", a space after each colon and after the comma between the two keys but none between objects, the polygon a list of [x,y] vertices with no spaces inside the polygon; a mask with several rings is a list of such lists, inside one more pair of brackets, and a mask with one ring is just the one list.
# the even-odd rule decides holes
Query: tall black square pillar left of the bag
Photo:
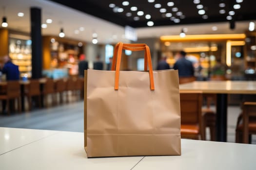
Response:
[{"label": "tall black square pillar left of the bag", "polygon": [[42,34],[41,9],[30,8],[31,40],[32,40],[32,79],[42,77]]}]

